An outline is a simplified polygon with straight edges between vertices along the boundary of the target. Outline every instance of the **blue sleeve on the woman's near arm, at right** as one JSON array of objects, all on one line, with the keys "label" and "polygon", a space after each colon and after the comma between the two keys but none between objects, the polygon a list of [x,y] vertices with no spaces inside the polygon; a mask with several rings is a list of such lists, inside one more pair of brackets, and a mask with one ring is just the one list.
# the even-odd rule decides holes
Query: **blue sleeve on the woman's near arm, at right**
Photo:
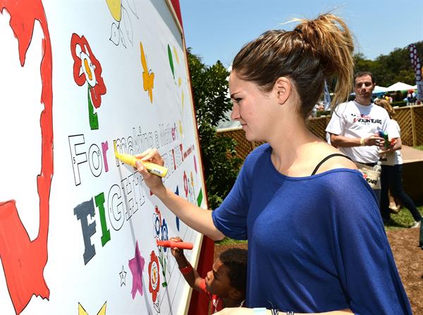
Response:
[{"label": "blue sleeve on the woman's near arm, at right", "polygon": [[363,182],[362,178],[345,181],[329,198],[341,285],[356,314],[412,314],[379,207]]}]

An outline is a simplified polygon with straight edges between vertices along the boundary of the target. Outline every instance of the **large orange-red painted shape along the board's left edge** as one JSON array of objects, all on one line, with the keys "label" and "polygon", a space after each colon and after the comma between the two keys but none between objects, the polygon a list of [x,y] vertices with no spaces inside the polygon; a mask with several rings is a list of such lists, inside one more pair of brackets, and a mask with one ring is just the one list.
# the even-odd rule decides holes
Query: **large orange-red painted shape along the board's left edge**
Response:
[{"label": "large orange-red painted shape along the board's left edge", "polygon": [[[39,194],[39,230],[32,242],[20,221],[16,202],[0,202],[0,258],[6,277],[6,285],[16,314],[25,309],[32,295],[49,298],[49,288],[44,280],[47,264],[47,237],[49,233],[49,197],[53,177],[53,91],[51,87],[51,42],[47,19],[41,0],[0,0],[0,13],[6,9],[11,16],[10,26],[18,39],[20,65],[25,65],[25,56],[32,39],[35,20],[38,20],[44,35],[42,40],[41,102],[44,110],[40,116],[42,133],[41,173],[37,176]],[[23,87],[25,89],[25,87]],[[38,102],[35,99],[34,102]],[[13,106],[15,104],[12,104]],[[11,118],[13,119],[13,118]],[[35,204],[33,209],[37,209]],[[36,215],[36,214],[35,214]]]}]

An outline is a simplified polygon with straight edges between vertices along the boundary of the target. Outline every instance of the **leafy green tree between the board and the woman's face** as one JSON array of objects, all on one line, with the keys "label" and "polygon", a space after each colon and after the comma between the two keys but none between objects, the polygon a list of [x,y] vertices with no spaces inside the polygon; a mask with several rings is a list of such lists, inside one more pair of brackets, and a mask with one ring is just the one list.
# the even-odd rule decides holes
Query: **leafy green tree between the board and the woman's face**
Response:
[{"label": "leafy green tree between the board and the woman's face", "polygon": [[215,209],[235,183],[242,163],[235,156],[235,140],[217,135],[216,127],[231,109],[228,71],[220,61],[206,66],[188,48],[192,94],[207,185],[209,206]]}]

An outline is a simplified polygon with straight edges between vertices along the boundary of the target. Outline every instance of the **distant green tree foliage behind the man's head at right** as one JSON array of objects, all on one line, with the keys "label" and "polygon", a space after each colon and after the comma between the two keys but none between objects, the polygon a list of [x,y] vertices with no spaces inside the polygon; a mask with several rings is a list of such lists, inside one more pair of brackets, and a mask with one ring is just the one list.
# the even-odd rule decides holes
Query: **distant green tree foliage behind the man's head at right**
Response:
[{"label": "distant green tree foliage behind the man's head at right", "polygon": [[[420,61],[423,61],[423,41],[415,43]],[[388,87],[396,82],[415,85],[415,71],[410,61],[408,47],[396,48],[388,55],[380,55],[374,61],[363,54],[355,54],[355,71],[370,71],[376,84]]]}]

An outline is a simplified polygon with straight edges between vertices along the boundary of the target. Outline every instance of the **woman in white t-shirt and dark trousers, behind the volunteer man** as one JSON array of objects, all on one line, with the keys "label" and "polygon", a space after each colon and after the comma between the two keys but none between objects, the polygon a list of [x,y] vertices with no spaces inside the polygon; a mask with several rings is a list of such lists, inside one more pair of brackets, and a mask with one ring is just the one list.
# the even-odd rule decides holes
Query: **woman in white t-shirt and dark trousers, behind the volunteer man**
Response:
[{"label": "woman in white t-shirt and dark trousers, behind the volunteer man", "polygon": [[405,193],[403,189],[403,158],[401,157],[400,149],[402,147],[400,137],[400,126],[395,121],[395,110],[391,104],[385,99],[379,99],[375,101],[376,105],[379,105],[388,111],[389,117],[391,118],[388,131],[388,135],[396,138],[396,144],[391,148],[381,151],[382,159],[382,173],[381,173],[381,215],[384,220],[389,220],[391,214],[389,212],[389,194],[388,190],[391,189],[393,197],[397,198],[405,208],[407,208],[414,222],[411,228],[419,228],[420,222],[422,221],[422,215],[419,213],[417,206],[412,202],[412,199]]}]

